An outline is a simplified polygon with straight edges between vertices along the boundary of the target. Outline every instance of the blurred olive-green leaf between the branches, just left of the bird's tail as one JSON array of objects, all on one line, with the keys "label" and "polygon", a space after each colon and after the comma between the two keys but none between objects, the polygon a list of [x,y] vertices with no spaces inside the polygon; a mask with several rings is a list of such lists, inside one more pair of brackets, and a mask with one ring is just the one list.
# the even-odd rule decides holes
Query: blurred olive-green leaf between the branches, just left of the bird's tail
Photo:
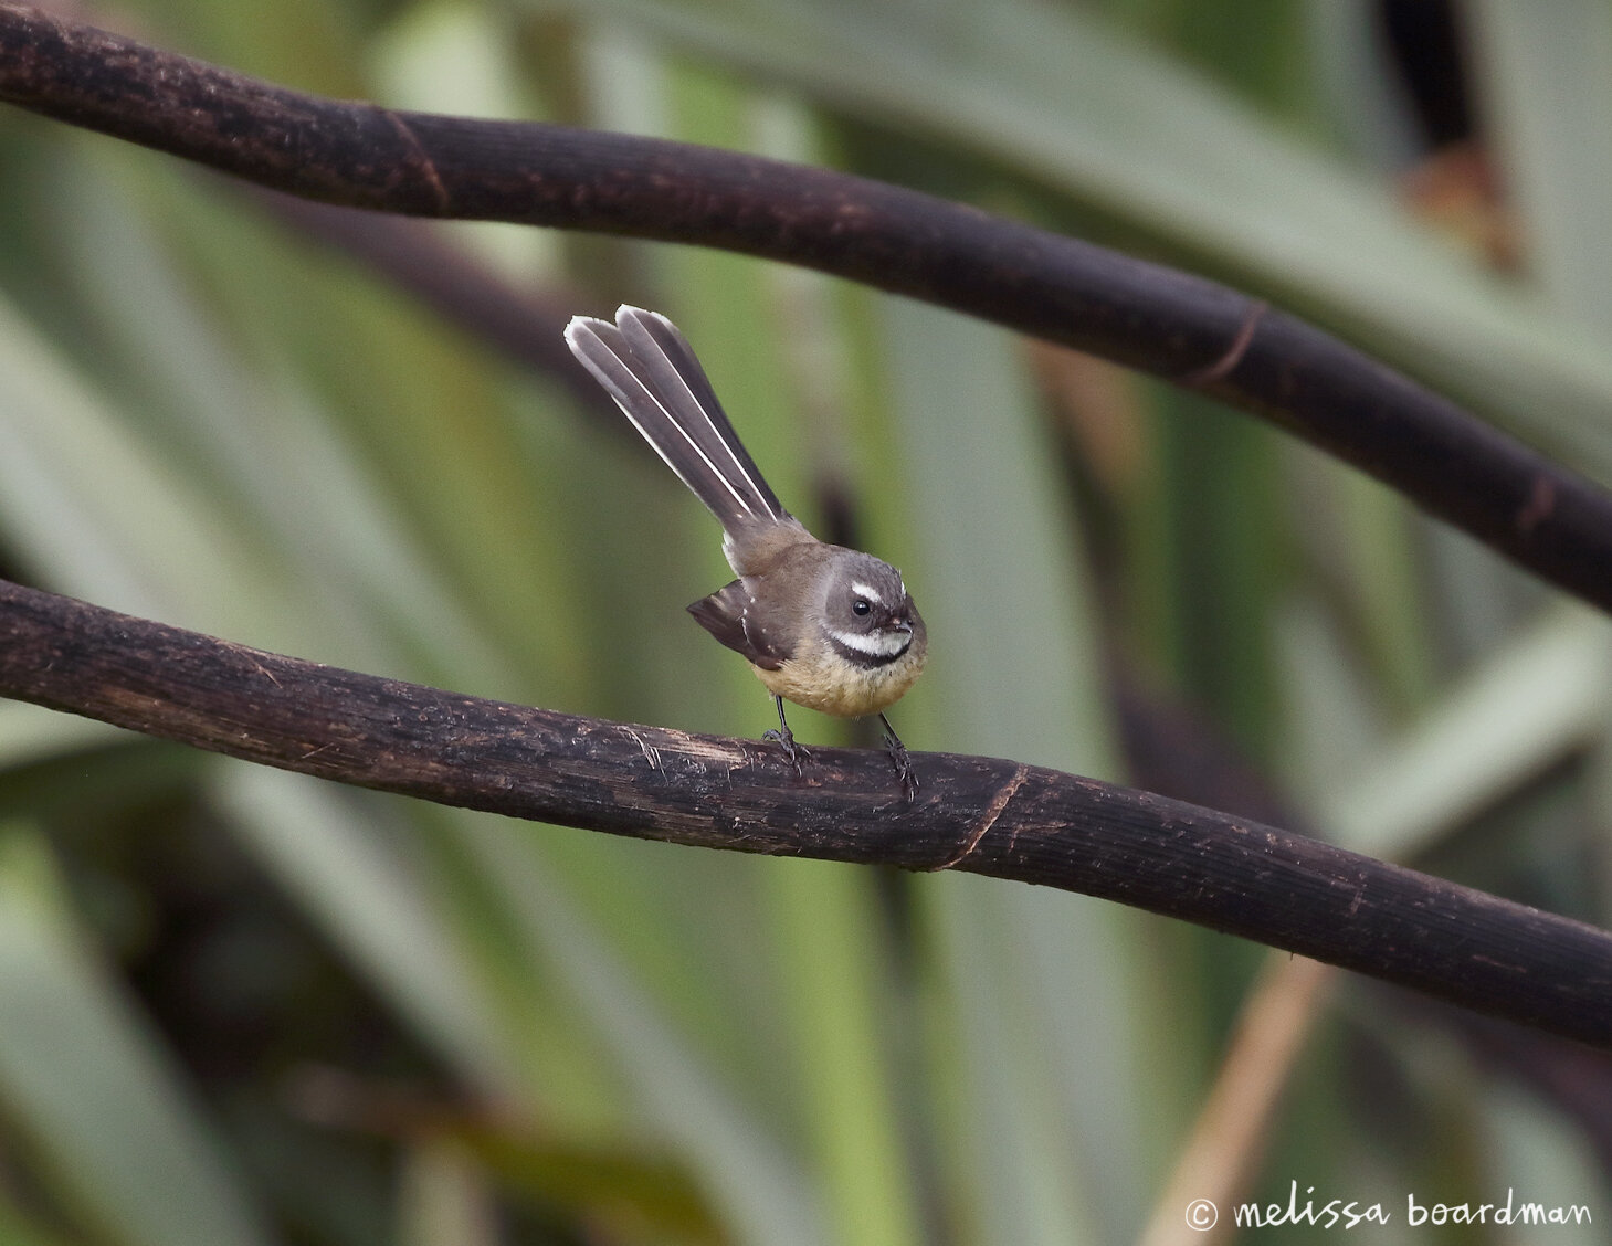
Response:
[{"label": "blurred olive-green leaf between the branches, just left of the bird's tail", "polygon": [[[311,387],[385,509],[400,513],[393,525],[442,577],[447,600],[479,621],[495,653],[526,659],[527,692],[501,693],[575,704],[598,654],[579,609],[577,550],[555,538],[567,532],[569,490],[534,487],[500,369],[385,285],[235,208],[193,195],[171,205],[237,335],[285,351],[282,363]],[[574,427],[551,427],[553,480],[574,466]],[[577,476],[588,479],[580,466]]]}]

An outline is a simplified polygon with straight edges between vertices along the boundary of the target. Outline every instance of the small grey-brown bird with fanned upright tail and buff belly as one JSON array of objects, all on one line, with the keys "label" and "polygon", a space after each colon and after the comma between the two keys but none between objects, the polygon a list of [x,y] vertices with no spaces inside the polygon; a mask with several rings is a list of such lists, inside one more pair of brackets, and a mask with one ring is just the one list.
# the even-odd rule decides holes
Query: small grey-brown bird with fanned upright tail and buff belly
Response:
[{"label": "small grey-brown bird with fanned upright tail and buff belly", "polygon": [[722,524],[722,553],[738,577],[688,613],[742,653],[772,693],[785,759],[806,750],[783,701],[841,717],[879,714],[908,803],[917,777],[885,717],[924,669],[929,637],[901,572],[829,545],[779,505],[729,422],[693,348],[666,316],[622,305],[616,322],[575,316],[566,343],[666,466]]}]

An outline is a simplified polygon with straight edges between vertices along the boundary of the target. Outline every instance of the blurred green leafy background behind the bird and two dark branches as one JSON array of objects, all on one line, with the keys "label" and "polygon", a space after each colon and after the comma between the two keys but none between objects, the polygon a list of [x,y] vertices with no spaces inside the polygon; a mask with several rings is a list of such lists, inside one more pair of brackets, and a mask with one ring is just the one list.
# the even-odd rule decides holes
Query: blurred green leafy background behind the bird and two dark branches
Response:
[{"label": "blurred green leafy background behind the bird and two dark branches", "polygon": [[[1599,3],[76,13],[303,90],[829,163],[1209,272],[1612,480]],[[714,525],[487,327],[493,293],[556,343],[637,301],[791,508],[906,571],[933,637],[909,745],[1609,920],[1606,621],[1383,488],[816,276],[393,224],[0,113],[0,571],[756,735],[761,690],[682,616],[727,579]],[[1294,1182],[1425,1241],[1409,1193],[1612,1207],[1609,1086],[1580,1049],[1078,896],[532,827],[0,703],[6,1243],[1203,1241],[1191,1198],[1224,1228]],[[1510,1240],[1485,1233],[1457,1240]]]}]

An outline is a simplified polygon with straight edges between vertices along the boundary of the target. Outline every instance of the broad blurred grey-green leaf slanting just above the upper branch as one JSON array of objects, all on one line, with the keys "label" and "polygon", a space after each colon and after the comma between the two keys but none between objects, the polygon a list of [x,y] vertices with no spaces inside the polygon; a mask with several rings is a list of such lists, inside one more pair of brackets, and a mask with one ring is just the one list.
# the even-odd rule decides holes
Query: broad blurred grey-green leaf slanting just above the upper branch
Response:
[{"label": "broad blurred grey-green leaf slanting just above the upper branch", "polygon": [[1612,358],[1599,334],[1464,260],[1383,179],[1091,15],[1033,0],[938,11],[601,0],[575,11],[999,161],[1612,479]]}]

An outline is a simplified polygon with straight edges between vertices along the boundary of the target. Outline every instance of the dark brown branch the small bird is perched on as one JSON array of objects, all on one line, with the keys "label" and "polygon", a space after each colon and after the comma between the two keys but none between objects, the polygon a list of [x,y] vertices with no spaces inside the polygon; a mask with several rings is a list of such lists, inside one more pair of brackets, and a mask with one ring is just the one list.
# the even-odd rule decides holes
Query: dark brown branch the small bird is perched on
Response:
[{"label": "dark brown branch the small bird is perched on", "polygon": [[995,758],[814,750],[484,701],[0,582],[0,696],[442,804],[740,853],[1083,891],[1612,1049],[1612,935],[1145,791]]}]

